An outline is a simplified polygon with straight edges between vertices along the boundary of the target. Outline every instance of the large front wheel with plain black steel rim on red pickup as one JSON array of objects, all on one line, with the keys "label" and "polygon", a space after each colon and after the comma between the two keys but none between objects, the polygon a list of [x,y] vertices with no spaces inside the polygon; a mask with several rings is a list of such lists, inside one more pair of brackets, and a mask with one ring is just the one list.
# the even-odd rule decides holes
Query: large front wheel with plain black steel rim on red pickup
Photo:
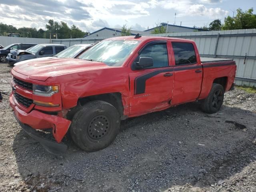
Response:
[{"label": "large front wheel with plain black steel rim on red pickup", "polygon": [[116,108],[104,101],[92,101],[76,112],[70,134],[77,146],[90,152],[109,146],[119,129],[120,114]]}]

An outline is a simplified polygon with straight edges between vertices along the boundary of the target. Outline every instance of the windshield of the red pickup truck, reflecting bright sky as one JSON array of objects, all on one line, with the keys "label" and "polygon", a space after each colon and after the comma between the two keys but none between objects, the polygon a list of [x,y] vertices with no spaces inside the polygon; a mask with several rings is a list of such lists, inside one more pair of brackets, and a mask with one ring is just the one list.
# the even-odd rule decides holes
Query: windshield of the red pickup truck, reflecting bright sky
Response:
[{"label": "windshield of the red pickup truck, reflecting bright sky", "polygon": [[104,40],[94,45],[78,58],[90,61],[104,62],[109,66],[122,66],[124,60],[140,41]]}]

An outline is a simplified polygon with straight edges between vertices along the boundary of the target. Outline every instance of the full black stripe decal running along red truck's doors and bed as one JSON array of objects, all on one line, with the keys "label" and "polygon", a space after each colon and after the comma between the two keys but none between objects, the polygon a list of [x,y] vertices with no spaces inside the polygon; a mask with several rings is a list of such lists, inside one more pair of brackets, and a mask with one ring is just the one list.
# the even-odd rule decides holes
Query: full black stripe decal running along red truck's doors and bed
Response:
[{"label": "full black stripe decal running along red truck's doors and bed", "polygon": [[138,76],[134,79],[134,94],[137,95],[137,94],[145,93],[146,80],[160,73],[182,71],[182,70],[188,70],[188,69],[197,69],[202,67],[207,68],[207,67],[227,66],[227,65],[235,65],[235,63],[230,62],[230,63],[218,63],[218,64],[202,64],[201,66],[186,66],[186,67],[179,67],[179,68],[174,67],[170,69],[155,70],[147,74],[144,74],[142,76]]}]

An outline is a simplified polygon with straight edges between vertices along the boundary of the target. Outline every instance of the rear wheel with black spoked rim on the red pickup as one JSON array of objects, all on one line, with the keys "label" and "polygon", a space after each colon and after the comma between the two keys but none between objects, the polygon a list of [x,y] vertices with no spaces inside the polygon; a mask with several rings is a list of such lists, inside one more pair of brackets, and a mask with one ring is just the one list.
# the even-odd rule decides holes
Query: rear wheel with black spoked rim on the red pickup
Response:
[{"label": "rear wheel with black spoked rim on the red pickup", "polygon": [[224,99],[224,88],[220,84],[212,84],[207,98],[201,101],[202,110],[206,113],[216,113],[220,110]]}]

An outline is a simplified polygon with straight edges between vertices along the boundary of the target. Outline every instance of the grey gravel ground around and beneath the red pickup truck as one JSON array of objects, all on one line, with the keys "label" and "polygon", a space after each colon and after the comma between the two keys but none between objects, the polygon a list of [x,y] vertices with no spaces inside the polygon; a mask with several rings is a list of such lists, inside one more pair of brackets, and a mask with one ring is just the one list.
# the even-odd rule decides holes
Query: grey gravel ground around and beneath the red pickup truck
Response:
[{"label": "grey gravel ground around and beneath the red pickup truck", "polygon": [[[11,68],[0,64],[0,89]],[[216,114],[197,103],[131,118],[108,148],[84,152],[69,139],[53,156],[0,102],[0,191],[256,192],[256,94],[225,94]]]}]

